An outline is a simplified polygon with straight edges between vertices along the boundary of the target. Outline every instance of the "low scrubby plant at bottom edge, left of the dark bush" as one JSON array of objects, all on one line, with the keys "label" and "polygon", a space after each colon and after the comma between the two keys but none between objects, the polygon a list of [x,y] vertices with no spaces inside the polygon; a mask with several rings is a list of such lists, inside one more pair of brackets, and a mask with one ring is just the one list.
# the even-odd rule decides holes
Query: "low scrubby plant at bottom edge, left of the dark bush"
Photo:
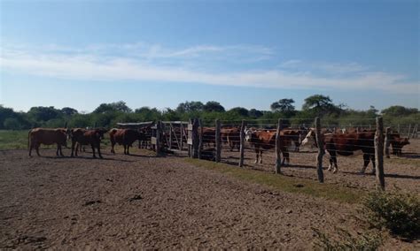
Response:
[{"label": "low scrubby plant at bottom edge, left of the dark bush", "polygon": [[377,250],[382,244],[382,237],[378,233],[362,233],[354,237],[344,229],[336,228],[339,240],[332,240],[331,236],[318,229],[315,232],[314,248],[321,250]]}]

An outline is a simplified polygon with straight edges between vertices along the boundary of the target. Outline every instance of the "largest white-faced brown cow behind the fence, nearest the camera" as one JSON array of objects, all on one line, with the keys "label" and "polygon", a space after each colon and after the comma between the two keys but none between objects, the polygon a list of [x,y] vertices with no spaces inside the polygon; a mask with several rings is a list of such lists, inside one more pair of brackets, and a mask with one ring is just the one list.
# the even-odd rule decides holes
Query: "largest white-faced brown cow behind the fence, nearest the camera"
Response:
[{"label": "largest white-faced brown cow behind the fence, nearest the camera", "polygon": [[[315,129],[311,129],[307,133],[307,137],[302,141],[302,145],[305,145],[311,138],[315,141]],[[375,173],[375,132],[323,133],[322,138],[324,148],[330,154],[328,171],[331,171],[331,168],[333,173],[338,171],[337,155],[351,156],[354,154],[354,151],[362,150],[363,167],[361,172],[364,173],[366,171],[371,161],[373,165],[372,173]]]}]

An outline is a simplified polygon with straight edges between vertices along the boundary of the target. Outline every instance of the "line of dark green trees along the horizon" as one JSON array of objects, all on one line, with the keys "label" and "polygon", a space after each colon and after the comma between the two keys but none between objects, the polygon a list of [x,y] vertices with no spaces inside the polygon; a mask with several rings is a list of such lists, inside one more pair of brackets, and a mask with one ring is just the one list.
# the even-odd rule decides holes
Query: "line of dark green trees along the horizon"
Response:
[{"label": "line of dark green trees along the horizon", "polygon": [[[367,110],[353,110],[345,104],[334,104],[329,96],[311,95],[304,100],[301,110],[296,110],[294,100],[280,99],[270,105],[270,110],[245,109],[235,107],[225,110],[221,103],[210,101],[187,101],[179,103],[175,109],[158,110],[141,107],[132,110],[123,102],[101,103],[90,113],[82,113],[71,107],[56,109],[53,106],[32,107],[27,112],[14,111],[0,105],[0,129],[23,130],[34,127],[106,127],[111,128],[116,123],[183,120],[202,118],[204,120],[241,120],[241,119],[272,119],[284,118],[285,121],[299,121],[299,124],[311,125],[313,118],[321,117],[328,125],[369,125],[378,115],[384,117],[387,125],[408,125],[419,122],[420,112],[416,108],[406,108],[393,105],[385,110],[377,110],[370,106]],[[292,122],[290,122],[292,123]]]}]

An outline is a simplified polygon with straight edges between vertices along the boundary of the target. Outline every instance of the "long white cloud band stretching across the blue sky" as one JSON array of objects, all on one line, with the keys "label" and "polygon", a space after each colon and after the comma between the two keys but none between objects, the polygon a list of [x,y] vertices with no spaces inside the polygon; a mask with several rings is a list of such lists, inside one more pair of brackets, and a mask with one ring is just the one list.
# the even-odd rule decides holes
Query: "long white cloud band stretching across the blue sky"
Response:
[{"label": "long white cloud band stretching across the blue sky", "polygon": [[[162,66],[148,58],[159,57],[197,57],[191,62],[200,65],[206,53],[226,55],[237,51],[269,56],[271,49],[250,46],[196,46],[187,49],[169,50],[144,44],[98,45],[90,47],[90,51],[114,49],[142,50],[142,57],[110,56],[101,53],[81,52],[62,53],[61,47],[43,49],[33,52],[27,49],[4,49],[0,57],[0,67],[7,72],[42,75],[63,79],[76,80],[135,80],[161,81],[167,83],[197,83],[206,85],[237,86],[237,87],[267,87],[287,89],[360,89],[381,90],[386,92],[413,94],[418,93],[418,82],[407,82],[405,77],[386,72],[368,71],[369,68],[355,63],[339,64],[305,64],[300,60],[286,61],[276,69],[255,69],[252,71],[205,71],[195,70],[188,64]],[[146,48],[146,49],[144,49]],[[47,50],[47,51],[46,51]],[[38,50],[35,50],[38,51]],[[66,49],[71,51],[71,49]],[[233,60],[234,58],[229,58]],[[303,67],[304,65],[310,65]],[[205,67],[201,67],[202,69]],[[316,74],[319,72],[334,72],[332,75]],[[345,74],[343,74],[345,73]]]}]

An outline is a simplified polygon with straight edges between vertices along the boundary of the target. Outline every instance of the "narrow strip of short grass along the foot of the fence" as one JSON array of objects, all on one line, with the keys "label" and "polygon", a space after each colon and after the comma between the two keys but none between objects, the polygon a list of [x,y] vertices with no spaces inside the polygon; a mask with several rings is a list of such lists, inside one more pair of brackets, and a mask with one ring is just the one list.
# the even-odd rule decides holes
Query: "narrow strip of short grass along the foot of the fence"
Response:
[{"label": "narrow strip of short grass along the foot of the fence", "polygon": [[185,162],[206,168],[208,170],[219,171],[223,174],[229,175],[230,177],[247,182],[269,186],[277,191],[287,193],[307,194],[310,196],[347,203],[361,203],[363,196],[366,195],[366,193],[362,190],[355,188],[334,184],[320,184],[315,180],[286,177],[264,171],[247,170],[231,166],[229,164],[220,164],[191,158],[185,158]]}]

